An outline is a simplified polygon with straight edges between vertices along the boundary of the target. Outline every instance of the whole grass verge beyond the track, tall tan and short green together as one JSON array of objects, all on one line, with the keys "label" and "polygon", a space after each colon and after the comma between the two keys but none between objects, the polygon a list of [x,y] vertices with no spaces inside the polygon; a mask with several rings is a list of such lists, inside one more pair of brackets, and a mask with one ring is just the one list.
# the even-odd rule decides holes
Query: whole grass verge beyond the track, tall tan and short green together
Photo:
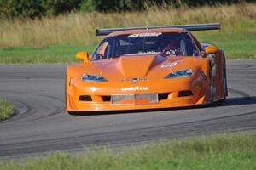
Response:
[{"label": "whole grass verge beyond the track, tall tan and short green together", "polygon": [[[154,17],[153,17],[154,16]],[[256,3],[200,8],[148,8],[124,13],[71,13],[40,20],[0,20],[0,63],[69,63],[79,50],[92,52],[97,28],[219,22],[220,31],[195,32],[223,48],[228,59],[256,58]],[[87,45],[86,45],[87,44]],[[88,45],[89,44],[89,45]]]}]

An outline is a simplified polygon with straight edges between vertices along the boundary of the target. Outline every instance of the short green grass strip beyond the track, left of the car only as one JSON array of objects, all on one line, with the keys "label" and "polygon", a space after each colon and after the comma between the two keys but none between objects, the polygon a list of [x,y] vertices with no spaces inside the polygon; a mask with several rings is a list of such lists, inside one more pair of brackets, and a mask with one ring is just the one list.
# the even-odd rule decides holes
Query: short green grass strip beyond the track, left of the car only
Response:
[{"label": "short green grass strip beyond the track, left of the car only", "polygon": [[58,44],[43,47],[0,48],[0,63],[70,63],[74,62],[75,54],[80,50],[89,53],[96,45]]}]

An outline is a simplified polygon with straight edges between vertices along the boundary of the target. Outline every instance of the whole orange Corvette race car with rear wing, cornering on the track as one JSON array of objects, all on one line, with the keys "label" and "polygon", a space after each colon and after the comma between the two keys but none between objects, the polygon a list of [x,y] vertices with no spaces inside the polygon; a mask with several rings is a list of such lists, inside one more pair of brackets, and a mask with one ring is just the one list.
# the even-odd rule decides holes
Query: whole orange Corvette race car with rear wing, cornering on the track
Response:
[{"label": "whole orange Corvette race car with rear wing, cornering on the track", "polygon": [[82,64],[67,67],[67,111],[206,105],[228,95],[224,51],[190,31],[219,24],[96,30],[105,36]]}]

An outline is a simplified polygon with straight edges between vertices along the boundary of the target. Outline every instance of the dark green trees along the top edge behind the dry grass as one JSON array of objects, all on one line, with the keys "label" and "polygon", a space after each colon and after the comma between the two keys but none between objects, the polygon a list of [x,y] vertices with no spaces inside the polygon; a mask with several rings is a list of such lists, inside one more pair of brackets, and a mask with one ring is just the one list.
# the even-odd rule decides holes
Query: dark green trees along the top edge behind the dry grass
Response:
[{"label": "dark green trees along the top edge behind the dry grass", "polygon": [[256,0],[1,0],[0,17],[36,18],[67,14],[71,11],[121,12],[141,10],[150,6],[179,8],[241,2],[255,3]]}]

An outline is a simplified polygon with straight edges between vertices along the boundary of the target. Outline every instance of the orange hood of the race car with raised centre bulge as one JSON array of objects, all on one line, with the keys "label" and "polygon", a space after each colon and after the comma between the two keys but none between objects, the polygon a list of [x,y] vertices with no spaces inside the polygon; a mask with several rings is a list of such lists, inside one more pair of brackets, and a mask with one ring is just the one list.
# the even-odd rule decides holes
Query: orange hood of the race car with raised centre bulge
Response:
[{"label": "orange hood of the race car with raised centre bulge", "polygon": [[119,81],[125,78],[163,78],[173,71],[189,68],[195,57],[166,57],[160,54],[124,55],[118,59],[92,61],[82,65],[81,74],[96,74]]}]

